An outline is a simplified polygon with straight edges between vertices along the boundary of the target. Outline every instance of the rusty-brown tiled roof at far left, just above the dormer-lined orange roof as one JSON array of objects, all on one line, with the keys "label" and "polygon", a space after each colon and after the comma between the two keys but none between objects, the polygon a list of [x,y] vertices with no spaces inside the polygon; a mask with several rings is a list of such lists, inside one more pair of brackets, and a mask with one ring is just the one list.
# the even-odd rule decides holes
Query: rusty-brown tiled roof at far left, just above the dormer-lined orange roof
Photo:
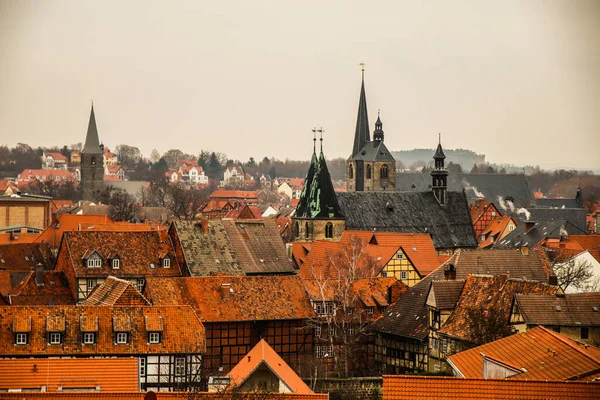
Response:
[{"label": "rusty-brown tiled roof at far left, just above the dormer-lined orange roof", "polygon": [[8,297],[12,305],[66,305],[75,304],[65,274],[60,271],[43,271],[42,285],[35,280],[35,272],[29,275],[15,288]]}]

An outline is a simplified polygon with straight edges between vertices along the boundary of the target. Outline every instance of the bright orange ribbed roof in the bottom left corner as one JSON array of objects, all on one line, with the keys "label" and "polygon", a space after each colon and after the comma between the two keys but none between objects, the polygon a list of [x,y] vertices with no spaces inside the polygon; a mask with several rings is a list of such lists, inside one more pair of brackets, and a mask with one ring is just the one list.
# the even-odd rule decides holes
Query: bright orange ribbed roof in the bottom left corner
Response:
[{"label": "bright orange ribbed roof in the bottom left corner", "polygon": [[[46,387],[47,392],[87,388],[137,392],[137,358],[0,359],[0,390]],[[0,394],[0,398],[4,395]],[[21,393],[21,397],[28,397]]]}]

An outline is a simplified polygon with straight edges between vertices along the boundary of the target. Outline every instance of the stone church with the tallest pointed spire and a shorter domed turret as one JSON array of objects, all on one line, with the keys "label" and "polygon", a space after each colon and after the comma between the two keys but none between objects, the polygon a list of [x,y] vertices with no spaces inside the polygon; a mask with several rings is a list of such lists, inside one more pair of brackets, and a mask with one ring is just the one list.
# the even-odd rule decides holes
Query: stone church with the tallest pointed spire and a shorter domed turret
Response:
[{"label": "stone church with the tallest pointed spire and a shorter domed turret", "polygon": [[346,189],[349,192],[396,190],[396,160],[383,138],[383,123],[377,115],[371,141],[363,66],[354,144],[352,155],[346,160]]}]

